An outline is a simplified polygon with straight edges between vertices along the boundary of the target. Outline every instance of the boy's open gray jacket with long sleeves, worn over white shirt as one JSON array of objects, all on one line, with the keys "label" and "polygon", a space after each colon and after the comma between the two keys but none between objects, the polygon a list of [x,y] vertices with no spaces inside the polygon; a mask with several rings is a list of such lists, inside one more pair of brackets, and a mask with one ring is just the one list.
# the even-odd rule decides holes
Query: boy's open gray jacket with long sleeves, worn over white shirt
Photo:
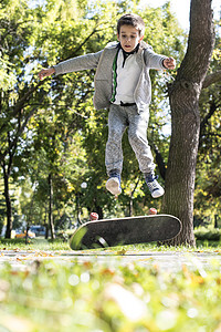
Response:
[{"label": "boy's open gray jacket with long sleeves, worn over white shirt", "polygon": [[[113,93],[113,62],[118,50],[117,43],[108,44],[97,53],[76,56],[54,65],[55,75],[96,69],[94,86],[94,106],[96,110],[108,108]],[[165,70],[162,61],[167,56],[157,54],[144,41],[136,53],[136,61],[141,73],[134,92],[138,113],[145,110],[151,101],[151,82],[149,70]]]}]

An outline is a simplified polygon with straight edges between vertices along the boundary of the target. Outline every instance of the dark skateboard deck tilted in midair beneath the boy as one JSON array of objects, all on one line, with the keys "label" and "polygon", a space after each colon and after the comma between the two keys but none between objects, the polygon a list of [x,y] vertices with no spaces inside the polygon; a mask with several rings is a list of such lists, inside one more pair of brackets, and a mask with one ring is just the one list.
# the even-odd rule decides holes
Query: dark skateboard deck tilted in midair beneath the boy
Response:
[{"label": "dark skateboard deck tilted in midair beneath the boy", "polygon": [[73,250],[165,241],[176,237],[181,222],[169,215],[101,219],[83,224],[70,240]]}]

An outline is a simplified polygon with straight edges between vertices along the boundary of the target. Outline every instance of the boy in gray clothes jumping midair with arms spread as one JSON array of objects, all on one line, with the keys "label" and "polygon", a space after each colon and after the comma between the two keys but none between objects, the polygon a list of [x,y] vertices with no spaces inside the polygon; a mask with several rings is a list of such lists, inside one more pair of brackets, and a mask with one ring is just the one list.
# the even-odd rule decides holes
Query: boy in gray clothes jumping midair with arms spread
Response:
[{"label": "boy in gray clothes jumping midair with arms spread", "polygon": [[108,180],[106,188],[119,195],[123,168],[122,137],[128,127],[129,143],[139,168],[154,198],[164,195],[155,176],[154,157],[147,141],[151,83],[149,69],[175,69],[172,58],[156,54],[144,39],[145,23],[137,14],[125,14],[117,22],[119,43],[104,50],[70,59],[41,70],[40,80],[51,74],[96,69],[94,105],[96,110],[109,108],[108,141],[105,165]]}]

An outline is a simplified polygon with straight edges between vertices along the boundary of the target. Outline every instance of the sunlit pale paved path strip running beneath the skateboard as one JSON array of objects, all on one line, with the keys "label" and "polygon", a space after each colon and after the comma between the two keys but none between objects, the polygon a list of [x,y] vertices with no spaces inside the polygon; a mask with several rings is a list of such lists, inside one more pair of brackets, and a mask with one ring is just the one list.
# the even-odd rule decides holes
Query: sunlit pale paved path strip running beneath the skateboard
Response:
[{"label": "sunlit pale paved path strip running beneath the skateboard", "polygon": [[[54,261],[59,264],[83,263],[86,261],[109,264],[138,263],[147,268],[157,267],[168,272],[178,272],[186,264],[199,271],[210,269],[213,263],[221,264],[221,250],[208,251],[41,251],[0,250],[0,268],[6,262],[15,270],[24,270],[34,261]],[[201,273],[201,272],[200,272]]]}]

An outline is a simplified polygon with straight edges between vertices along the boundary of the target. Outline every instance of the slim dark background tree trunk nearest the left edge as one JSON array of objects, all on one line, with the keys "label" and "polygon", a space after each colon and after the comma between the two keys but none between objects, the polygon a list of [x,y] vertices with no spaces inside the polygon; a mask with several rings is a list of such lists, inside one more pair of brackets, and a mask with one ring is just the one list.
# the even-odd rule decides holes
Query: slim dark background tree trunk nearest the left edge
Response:
[{"label": "slim dark background tree trunk nearest the left edge", "polygon": [[4,180],[4,197],[6,197],[6,205],[7,205],[7,231],[6,231],[6,239],[11,238],[12,231],[12,208],[11,208],[11,198],[9,194],[9,174],[7,172],[7,166],[3,163],[3,180]]}]

